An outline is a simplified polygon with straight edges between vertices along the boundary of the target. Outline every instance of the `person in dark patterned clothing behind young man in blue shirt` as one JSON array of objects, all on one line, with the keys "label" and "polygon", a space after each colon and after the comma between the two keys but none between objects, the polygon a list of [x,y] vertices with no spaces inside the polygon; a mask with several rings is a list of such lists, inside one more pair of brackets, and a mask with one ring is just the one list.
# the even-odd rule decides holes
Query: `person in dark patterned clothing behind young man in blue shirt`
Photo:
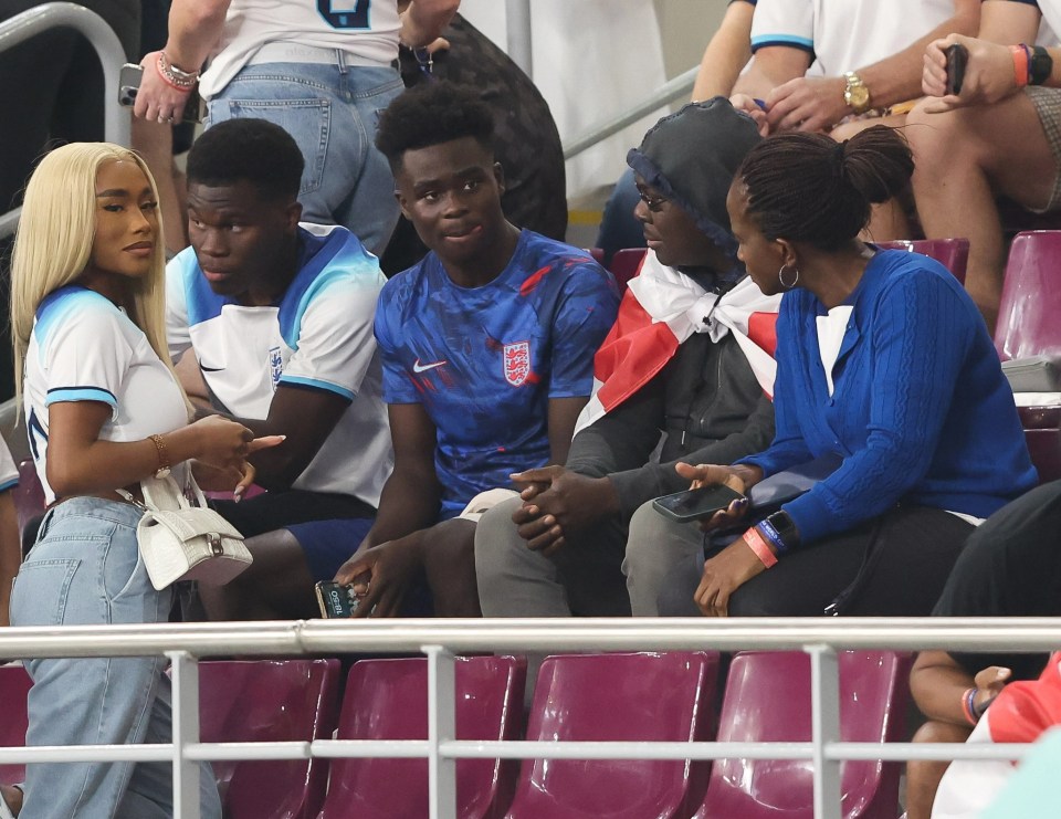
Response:
[{"label": "person in dark patterned clothing behind young man in blue shirt", "polygon": [[[442,36],[448,45],[433,51],[399,49],[406,86],[411,88],[437,77],[476,88],[494,115],[494,150],[505,169],[505,192],[501,197],[505,218],[517,228],[564,241],[564,150],[548,103],[530,77],[460,14],[453,17]],[[427,252],[412,223],[400,219],[380,264],[391,275],[411,267]]]}]

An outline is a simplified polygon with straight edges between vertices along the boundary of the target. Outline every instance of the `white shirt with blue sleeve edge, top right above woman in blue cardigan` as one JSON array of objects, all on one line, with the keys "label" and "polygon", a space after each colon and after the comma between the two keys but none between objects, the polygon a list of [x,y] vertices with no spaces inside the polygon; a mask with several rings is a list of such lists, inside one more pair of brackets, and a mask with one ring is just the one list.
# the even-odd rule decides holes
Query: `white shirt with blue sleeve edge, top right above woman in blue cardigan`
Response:
[{"label": "white shirt with blue sleeve edge, top right above woman in blue cardigan", "polygon": [[759,0],[752,51],[801,49],[823,76],[839,76],[896,54],[953,15],[954,0]]}]

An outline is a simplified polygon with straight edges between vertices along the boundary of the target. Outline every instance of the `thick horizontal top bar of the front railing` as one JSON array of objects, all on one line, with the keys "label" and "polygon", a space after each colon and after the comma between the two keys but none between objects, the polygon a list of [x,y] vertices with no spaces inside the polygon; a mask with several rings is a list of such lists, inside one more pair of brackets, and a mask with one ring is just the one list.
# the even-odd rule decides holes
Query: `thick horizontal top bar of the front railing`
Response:
[{"label": "thick horizontal top bar of the front railing", "polygon": [[420,651],[1052,651],[1061,618],[284,620],[0,629],[0,657],[198,657]]}]

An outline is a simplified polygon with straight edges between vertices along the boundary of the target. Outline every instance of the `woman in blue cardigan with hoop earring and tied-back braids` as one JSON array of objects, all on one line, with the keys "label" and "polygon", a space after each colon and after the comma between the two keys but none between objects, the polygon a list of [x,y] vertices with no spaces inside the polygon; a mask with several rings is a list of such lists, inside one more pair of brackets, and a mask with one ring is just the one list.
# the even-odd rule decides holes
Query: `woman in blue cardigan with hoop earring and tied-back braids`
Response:
[{"label": "woman in blue cardigan with hoop earring and tied-back braids", "polygon": [[764,293],[785,294],[777,433],[734,465],[680,471],[747,491],[819,456],[841,461],[708,557],[694,596],[704,615],[928,615],[974,526],[1036,485],[971,300],[941,264],[859,240],[871,204],[912,170],[905,140],[876,126],[839,144],[774,137],[737,172],[739,258]]}]

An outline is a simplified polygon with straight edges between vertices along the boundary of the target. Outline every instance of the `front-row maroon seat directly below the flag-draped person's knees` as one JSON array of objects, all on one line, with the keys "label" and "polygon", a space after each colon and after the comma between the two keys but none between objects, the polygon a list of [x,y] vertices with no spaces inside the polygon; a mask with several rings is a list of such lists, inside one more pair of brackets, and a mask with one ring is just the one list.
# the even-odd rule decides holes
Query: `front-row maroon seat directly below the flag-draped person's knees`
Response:
[{"label": "front-row maroon seat directly below the flag-draped person's knees", "polygon": [[[718,655],[564,655],[538,674],[527,739],[706,739]],[[508,819],[687,817],[705,765],[684,759],[526,759]]]}]

